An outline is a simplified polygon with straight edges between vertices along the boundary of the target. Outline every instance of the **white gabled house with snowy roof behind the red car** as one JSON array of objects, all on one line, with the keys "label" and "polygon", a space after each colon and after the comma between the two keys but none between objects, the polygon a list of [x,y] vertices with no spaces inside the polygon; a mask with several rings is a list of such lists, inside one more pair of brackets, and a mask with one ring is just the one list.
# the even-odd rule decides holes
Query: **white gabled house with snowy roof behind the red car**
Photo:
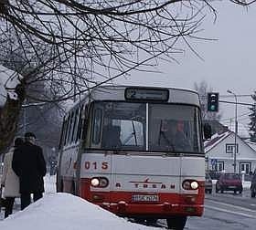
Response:
[{"label": "white gabled house with snowy roof behind the red car", "polygon": [[236,173],[250,174],[256,169],[256,150],[246,141],[242,141],[238,135],[235,148],[233,131],[214,134],[211,140],[204,142],[204,146],[207,170],[216,173],[234,173],[234,162],[236,162]]}]

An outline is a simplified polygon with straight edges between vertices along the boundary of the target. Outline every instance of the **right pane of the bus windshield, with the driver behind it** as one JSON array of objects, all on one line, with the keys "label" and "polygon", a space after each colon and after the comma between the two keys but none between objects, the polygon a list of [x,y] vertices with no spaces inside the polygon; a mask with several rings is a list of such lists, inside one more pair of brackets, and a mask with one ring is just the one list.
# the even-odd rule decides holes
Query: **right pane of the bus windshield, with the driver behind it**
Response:
[{"label": "right pane of the bus windshield, with the driver behind it", "polygon": [[149,104],[151,151],[202,152],[199,110],[180,104]]}]

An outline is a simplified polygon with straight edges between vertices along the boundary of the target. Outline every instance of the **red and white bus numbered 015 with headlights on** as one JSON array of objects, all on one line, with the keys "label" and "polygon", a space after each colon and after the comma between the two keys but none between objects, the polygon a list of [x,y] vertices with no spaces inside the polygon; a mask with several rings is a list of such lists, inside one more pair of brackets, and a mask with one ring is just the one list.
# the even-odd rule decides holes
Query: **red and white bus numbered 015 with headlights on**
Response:
[{"label": "red and white bus numbered 015 with headlights on", "polygon": [[203,137],[210,130],[193,90],[91,89],[63,120],[57,191],[134,222],[183,229],[204,210]]}]

